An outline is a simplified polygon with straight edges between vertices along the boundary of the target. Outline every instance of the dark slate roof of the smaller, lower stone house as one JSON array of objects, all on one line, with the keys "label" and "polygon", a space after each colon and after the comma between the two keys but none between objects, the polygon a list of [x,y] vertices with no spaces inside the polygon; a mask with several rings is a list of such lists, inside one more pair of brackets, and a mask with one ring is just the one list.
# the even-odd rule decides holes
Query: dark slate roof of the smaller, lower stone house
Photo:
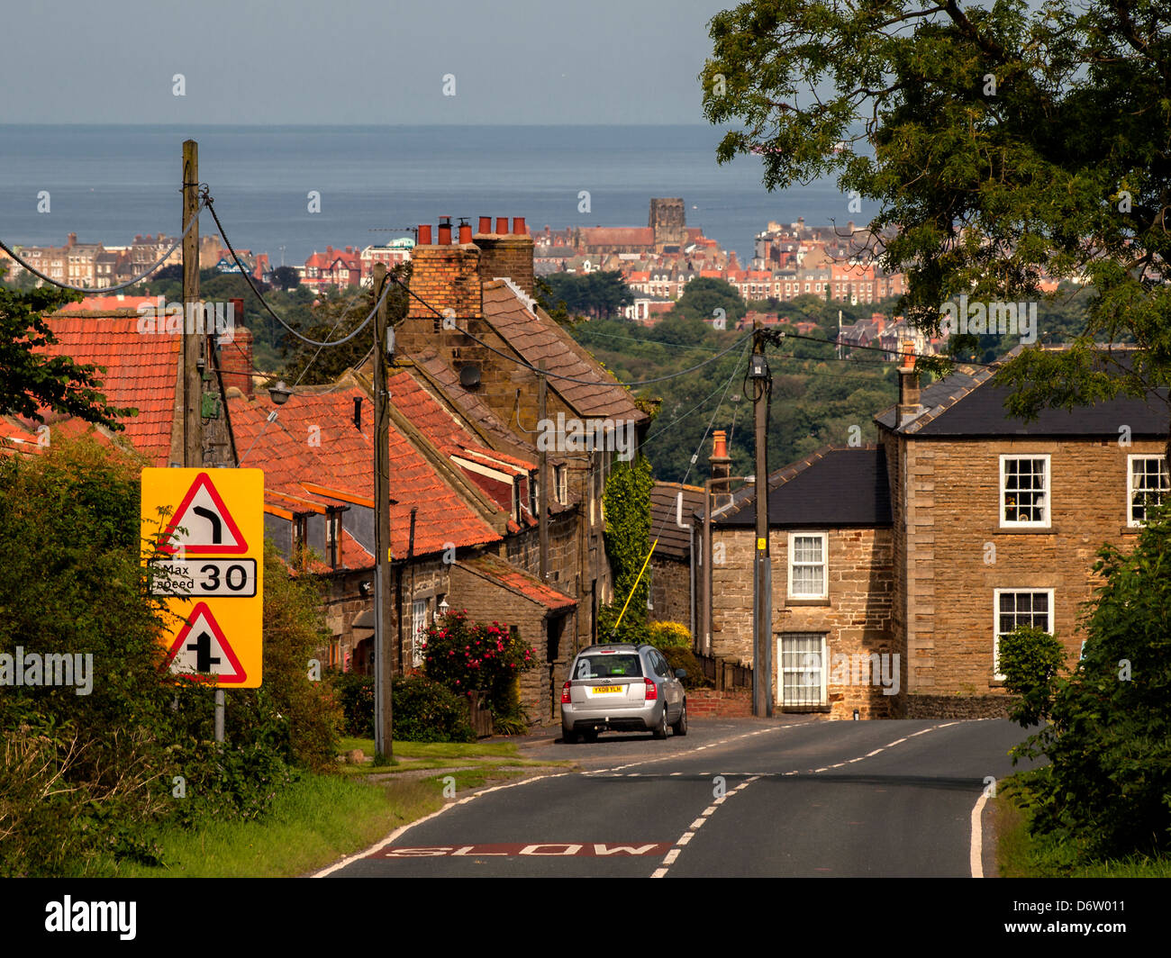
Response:
[{"label": "dark slate roof of the smaller, lower stone house", "polygon": [[[890,484],[881,446],[827,446],[768,477],[769,528],[890,526]],[[697,518],[703,521],[703,513]],[[755,487],[737,492],[712,521],[732,528],[756,524]]]}]

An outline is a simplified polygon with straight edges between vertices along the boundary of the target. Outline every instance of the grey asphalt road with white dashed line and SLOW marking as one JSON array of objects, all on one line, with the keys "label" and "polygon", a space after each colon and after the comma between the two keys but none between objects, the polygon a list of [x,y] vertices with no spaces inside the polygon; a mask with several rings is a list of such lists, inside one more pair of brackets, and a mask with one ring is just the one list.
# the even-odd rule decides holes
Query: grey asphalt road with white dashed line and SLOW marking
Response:
[{"label": "grey asphalt road with white dashed line and SLOW marking", "polygon": [[696,720],[666,741],[557,743],[541,758],[583,771],[457,795],[327,873],[970,876],[973,807],[1013,772],[1022,738],[1004,720],[782,717]]}]

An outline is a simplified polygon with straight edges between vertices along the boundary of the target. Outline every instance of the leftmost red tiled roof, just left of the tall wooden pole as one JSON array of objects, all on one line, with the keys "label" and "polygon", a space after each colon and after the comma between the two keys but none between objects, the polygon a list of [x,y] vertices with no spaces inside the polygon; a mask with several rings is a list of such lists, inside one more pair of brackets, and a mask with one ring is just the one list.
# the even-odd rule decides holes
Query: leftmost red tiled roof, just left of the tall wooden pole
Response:
[{"label": "leftmost red tiled roof, just left of the tall wooden pole", "polygon": [[[87,302],[74,306],[85,309]],[[43,351],[50,356],[68,356],[76,363],[104,367],[107,371],[96,375],[102,382],[98,391],[107,402],[138,410],[137,416],[121,420],[125,425],[121,434],[153,465],[166,465],[174,416],[179,335],[139,333],[137,316],[81,319],[54,314],[47,321],[57,341]]]}]

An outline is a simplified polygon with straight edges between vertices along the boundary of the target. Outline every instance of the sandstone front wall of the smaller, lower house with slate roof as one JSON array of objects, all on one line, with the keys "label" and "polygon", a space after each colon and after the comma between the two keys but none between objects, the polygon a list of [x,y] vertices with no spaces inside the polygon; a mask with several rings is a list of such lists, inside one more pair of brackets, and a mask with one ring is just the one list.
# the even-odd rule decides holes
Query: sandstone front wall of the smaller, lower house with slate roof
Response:
[{"label": "sandstone front wall of the smaller, lower house with slate roof", "polygon": [[[803,532],[803,531],[801,531]],[[712,654],[744,665],[753,663],[752,605],[755,534],[752,529],[719,529],[712,539]],[[892,717],[905,684],[905,657],[893,629],[895,577],[892,568],[892,533],[890,529],[830,529],[828,532],[828,591],[826,600],[789,600],[788,532],[773,529],[769,549],[773,568],[773,691],[781,706],[779,641],[786,632],[826,634],[827,703],[835,718]],[[720,561],[720,546],[724,561]],[[871,677],[869,656],[886,659],[890,687],[897,694],[884,694],[884,687]],[[893,656],[898,655],[898,679],[895,685]],[[840,668],[841,658],[849,668]],[[867,669],[856,668],[863,663]],[[835,668],[836,666],[836,668]],[[840,678],[843,680],[835,682]]]}]

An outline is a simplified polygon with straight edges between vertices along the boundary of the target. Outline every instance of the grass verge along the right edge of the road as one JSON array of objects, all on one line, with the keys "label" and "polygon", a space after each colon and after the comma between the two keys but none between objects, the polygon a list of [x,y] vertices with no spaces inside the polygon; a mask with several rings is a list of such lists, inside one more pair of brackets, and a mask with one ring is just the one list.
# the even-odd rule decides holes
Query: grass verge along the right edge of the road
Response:
[{"label": "grass verge along the right edge of the road", "polygon": [[1114,858],[1078,864],[1075,849],[1049,835],[1030,835],[1028,795],[1013,780],[995,799],[997,864],[1004,878],[1171,878],[1167,858]]}]

